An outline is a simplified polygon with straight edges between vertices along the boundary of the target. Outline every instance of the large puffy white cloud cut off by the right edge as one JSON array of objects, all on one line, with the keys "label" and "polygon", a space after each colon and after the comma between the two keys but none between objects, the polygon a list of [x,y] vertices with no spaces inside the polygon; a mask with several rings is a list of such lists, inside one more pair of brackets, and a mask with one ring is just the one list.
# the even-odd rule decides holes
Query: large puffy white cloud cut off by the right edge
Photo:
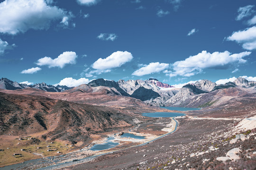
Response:
[{"label": "large puffy white cloud cut off by the right edge", "polygon": [[233,32],[227,38],[228,41],[235,41],[242,44],[242,47],[246,50],[256,49],[256,26],[246,28],[245,30],[240,30]]}]

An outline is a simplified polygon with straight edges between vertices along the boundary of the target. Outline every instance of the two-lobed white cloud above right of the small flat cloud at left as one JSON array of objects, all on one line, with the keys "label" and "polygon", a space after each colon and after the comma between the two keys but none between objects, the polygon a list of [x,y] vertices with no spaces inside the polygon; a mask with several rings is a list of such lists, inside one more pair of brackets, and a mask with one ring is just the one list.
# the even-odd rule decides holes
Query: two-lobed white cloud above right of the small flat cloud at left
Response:
[{"label": "two-lobed white cloud above right of the small flat cloud at left", "polygon": [[50,57],[44,57],[37,60],[38,66],[48,66],[49,68],[52,67],[59,67],[63,68],[66,64],[75,64],[77,55],[73,51],[65,51],[61,55],[59,55],[57,58],[52,59]]}]

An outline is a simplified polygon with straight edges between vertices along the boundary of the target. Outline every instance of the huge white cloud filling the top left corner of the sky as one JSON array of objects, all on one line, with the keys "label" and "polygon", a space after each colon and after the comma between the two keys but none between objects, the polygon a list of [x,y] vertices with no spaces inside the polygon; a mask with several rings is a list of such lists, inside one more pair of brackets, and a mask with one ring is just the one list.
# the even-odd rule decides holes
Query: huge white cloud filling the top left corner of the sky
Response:
[{"label": "huge white cloud filling the top left corner of the sky", "polygon": [[48,29],[51,21],[70,14],[45,0],[5,0],[0,3],[0,32],[17,34],[29,29]]}]

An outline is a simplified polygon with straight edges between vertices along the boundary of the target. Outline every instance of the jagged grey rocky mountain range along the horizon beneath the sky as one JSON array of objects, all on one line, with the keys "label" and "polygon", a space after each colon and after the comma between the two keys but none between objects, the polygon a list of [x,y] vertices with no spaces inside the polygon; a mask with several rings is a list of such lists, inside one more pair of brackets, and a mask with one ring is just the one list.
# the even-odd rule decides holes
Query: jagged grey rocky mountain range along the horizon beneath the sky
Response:
[{"label": "jagged grey rocky mountain range along the horizon beneath the sky", "polygon": [[[7,78],[0,79],[0,88],[6,90],[17,90],[25,88],[34,88],[43,90],[46,92],[62,92],[62,93],[86,93],[88,97],[89,94],[95,96],[100,96],[106,94],[109,97],[106,101],[119,100],[121,96],[131,97],[139,99],[147,104],[154,106],[183,106],[188,107],[188,105],[193,107],[204,106],[207,102],[213,102],[212,97],[209,94],[215,94],[217,90],[234,88],[237,91],[243,91],[244,93],[256,93],[256,82],[248,81],[245,78],[238,77],[234,82],[226,83],[225,85],[217,85],[210,80],[197,81],[194,84],[184,85],[182,88],[176,88],[172,85],[168,85],[158,81],[155,78],[149,78],[148,80],[119,80],[115,82],[114,80],[105,80],[103,78],[92,80],[87,85],[79,85],[77,87],[67,87],[57,85],[46,85],[45,83],[26,85],[13,82]],[[65,94],[66,95],[66,94]],[[69,95],[69,94],[68,94]],[[215,94],[216,95],[216,94]],[[69,95],[71,96],[71,95]],[[118,97],[119,96],[119,97]],[[196,97],[201,98],[201,100],[195,99]],[[204,100],[202,100],[204,97]],[[61,97],[55,97],[56,99],[62,99]],[[69,98],[69,97],[67,97]],[[92,100],[93,98],[91,98]],[[193,99],[193,101],[191,101]],[[69,100],[69,99],[67,99]],[[76,101],[78,99],[75,99]],[[125,100],[128,100],[126,98]],[[86,102],[80,101],[81,103],[87,104],[101,104],[103,101],[99,98],[98,102],[92,101],[88,103],[88,98]],[[187,102],[189,101],[189,102]],[[213,104],[213,103],[212,103]],[[207,105],[207,104],[206,104]],[[209,105],[209,104],[208,104]],[[207,106],[208,106],[207,105]]]}]

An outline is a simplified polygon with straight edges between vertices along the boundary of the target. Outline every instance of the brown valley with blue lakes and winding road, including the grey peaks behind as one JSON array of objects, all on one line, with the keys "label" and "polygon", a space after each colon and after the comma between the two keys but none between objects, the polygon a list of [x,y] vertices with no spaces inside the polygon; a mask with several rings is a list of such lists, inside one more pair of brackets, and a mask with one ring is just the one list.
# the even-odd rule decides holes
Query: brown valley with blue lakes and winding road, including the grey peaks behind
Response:
[{"label": "brown valley with blue lakes and winding road, including the grey peaks behind", "polygon": [[[226,85],[201,80],[182,88],[156,79],[97,79],[63,92],[0,89],[0,166],[6,166],[0,170],[234,167],[237,161],[217,160],[234,147],[242,150],[244,167],[254,166],[255,85],[243,78]],[[181,115],[145,114],[152,112]],[[239,134],[245,134],[243,140]]]}]

